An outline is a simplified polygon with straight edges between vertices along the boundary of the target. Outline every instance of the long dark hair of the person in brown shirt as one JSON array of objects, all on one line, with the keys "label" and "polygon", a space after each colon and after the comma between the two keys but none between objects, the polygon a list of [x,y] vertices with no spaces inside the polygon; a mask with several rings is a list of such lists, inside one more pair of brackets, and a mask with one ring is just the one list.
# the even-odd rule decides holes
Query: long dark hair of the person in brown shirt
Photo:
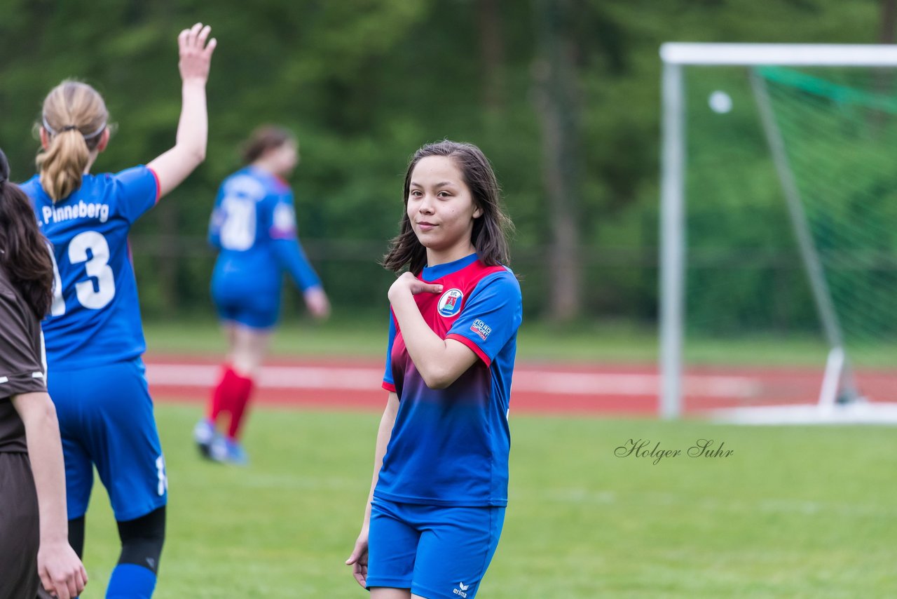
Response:
[{"label": "long dark hair of the person in brown shirt", "polygon": [[25,192],[9,181],[9,163],[0,150],[0,268],[38,319],[53,303],[53,262],[47,239]]}]

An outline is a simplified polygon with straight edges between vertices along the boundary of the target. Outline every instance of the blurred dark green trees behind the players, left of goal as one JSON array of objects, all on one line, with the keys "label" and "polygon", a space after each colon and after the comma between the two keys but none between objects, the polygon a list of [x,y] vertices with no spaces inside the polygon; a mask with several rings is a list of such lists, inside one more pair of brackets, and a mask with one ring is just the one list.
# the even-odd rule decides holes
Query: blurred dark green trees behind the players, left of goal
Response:
[{"label": "blurred dark green trees behind the players, left of goal", "polygon": [[[360,288],[374,298],[372,309],[386,309],[390,276],[377,260],[401,216],[406,161],[423,143],[450,137],[480,145],[495,165],[518,229],[513,267],[524,276],[528,315],[651,322],[660,43],[868,43],[889,31],[891,4],[3,0],[0,145],[13,175],[27,179],[40,102],[74,76],[103,92],[118,122],[96,168],[151,160],[173,143],[178,119],[175,38],[201,20],[220,42],[209,83],[209,152],[135,227],[145,313],[210,309],[205,227],[215,190],[239,167],[248,132],[276,122],[300,138],[292,181],[300,236],[336,309],[366,309]],[[550,35],[565,48],[557,57],[567,79],[540,84],[534,72],[551,26],[544,14],[556,10],[566,20]],[[546,96],[561,112],[539,108]],[[570,119],[568,145],[546,143],[551,114]],[[549,178],[552,164],[563,170]],[[561,213],[570,219],[563,226],[551,216]]]}]

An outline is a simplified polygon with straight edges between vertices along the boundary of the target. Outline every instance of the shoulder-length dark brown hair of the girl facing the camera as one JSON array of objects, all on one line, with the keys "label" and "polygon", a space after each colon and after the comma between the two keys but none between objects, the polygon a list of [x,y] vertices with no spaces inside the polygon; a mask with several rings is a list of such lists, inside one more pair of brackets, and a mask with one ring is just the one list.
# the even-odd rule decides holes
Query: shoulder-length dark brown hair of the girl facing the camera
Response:
[{"label": "shoulder-length dark brown hair of the girl facing the camera", "polygon": [[389,243],[389,251],[383,257],[383,266],[395,272],[407,266],[417,275],[427,265],[427,249],[417,241],[407,207],[411,173],[417,163],[429,156],[446,156],[455,161],[467,189],[470,189],[475,206],[483,211],[475,219],[474,231],[471,233],[476,255],[487,266],[507,265],[510,260],[508,237],[514,230],[514,224],[501,206],[501,189],[495,179],[495,172],[492,171],[492,164],[475,145],[445,139],[424,145],[408,163],[408,171],[405,172],[405,213],[399,222],[399,233]]}]

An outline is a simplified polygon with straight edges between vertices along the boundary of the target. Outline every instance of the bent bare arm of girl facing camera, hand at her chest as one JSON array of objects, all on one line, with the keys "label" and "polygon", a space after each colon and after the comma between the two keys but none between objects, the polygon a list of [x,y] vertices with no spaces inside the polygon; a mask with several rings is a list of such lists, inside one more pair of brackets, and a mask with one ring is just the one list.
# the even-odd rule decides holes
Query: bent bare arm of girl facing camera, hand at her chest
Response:
[{"label": "bent bare arm of girl facing camera, hand at her chest", "polygon": [[474,351],[455,339],[441,339],[423,320],[414,295],[441,293],[441,285],[424,283],[410,272],[396,278],[389,287],[389,303],[408,348],[408,356],[431,389],[445,389],[474,366]]}]

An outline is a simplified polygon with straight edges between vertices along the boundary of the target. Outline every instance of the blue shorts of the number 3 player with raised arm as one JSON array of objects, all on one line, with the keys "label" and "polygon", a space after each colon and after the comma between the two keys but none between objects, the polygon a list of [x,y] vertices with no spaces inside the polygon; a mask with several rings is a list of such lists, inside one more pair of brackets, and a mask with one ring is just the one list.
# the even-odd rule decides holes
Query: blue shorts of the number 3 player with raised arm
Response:
[{"label": "blue shorts of the number 3 player with raised arm", "polygon": [[118,521],[139,518],[168,501],[165,459],[144,370],[139,357],[79,370],[49,370],[69,519],[87,512],[94,465]]}]

